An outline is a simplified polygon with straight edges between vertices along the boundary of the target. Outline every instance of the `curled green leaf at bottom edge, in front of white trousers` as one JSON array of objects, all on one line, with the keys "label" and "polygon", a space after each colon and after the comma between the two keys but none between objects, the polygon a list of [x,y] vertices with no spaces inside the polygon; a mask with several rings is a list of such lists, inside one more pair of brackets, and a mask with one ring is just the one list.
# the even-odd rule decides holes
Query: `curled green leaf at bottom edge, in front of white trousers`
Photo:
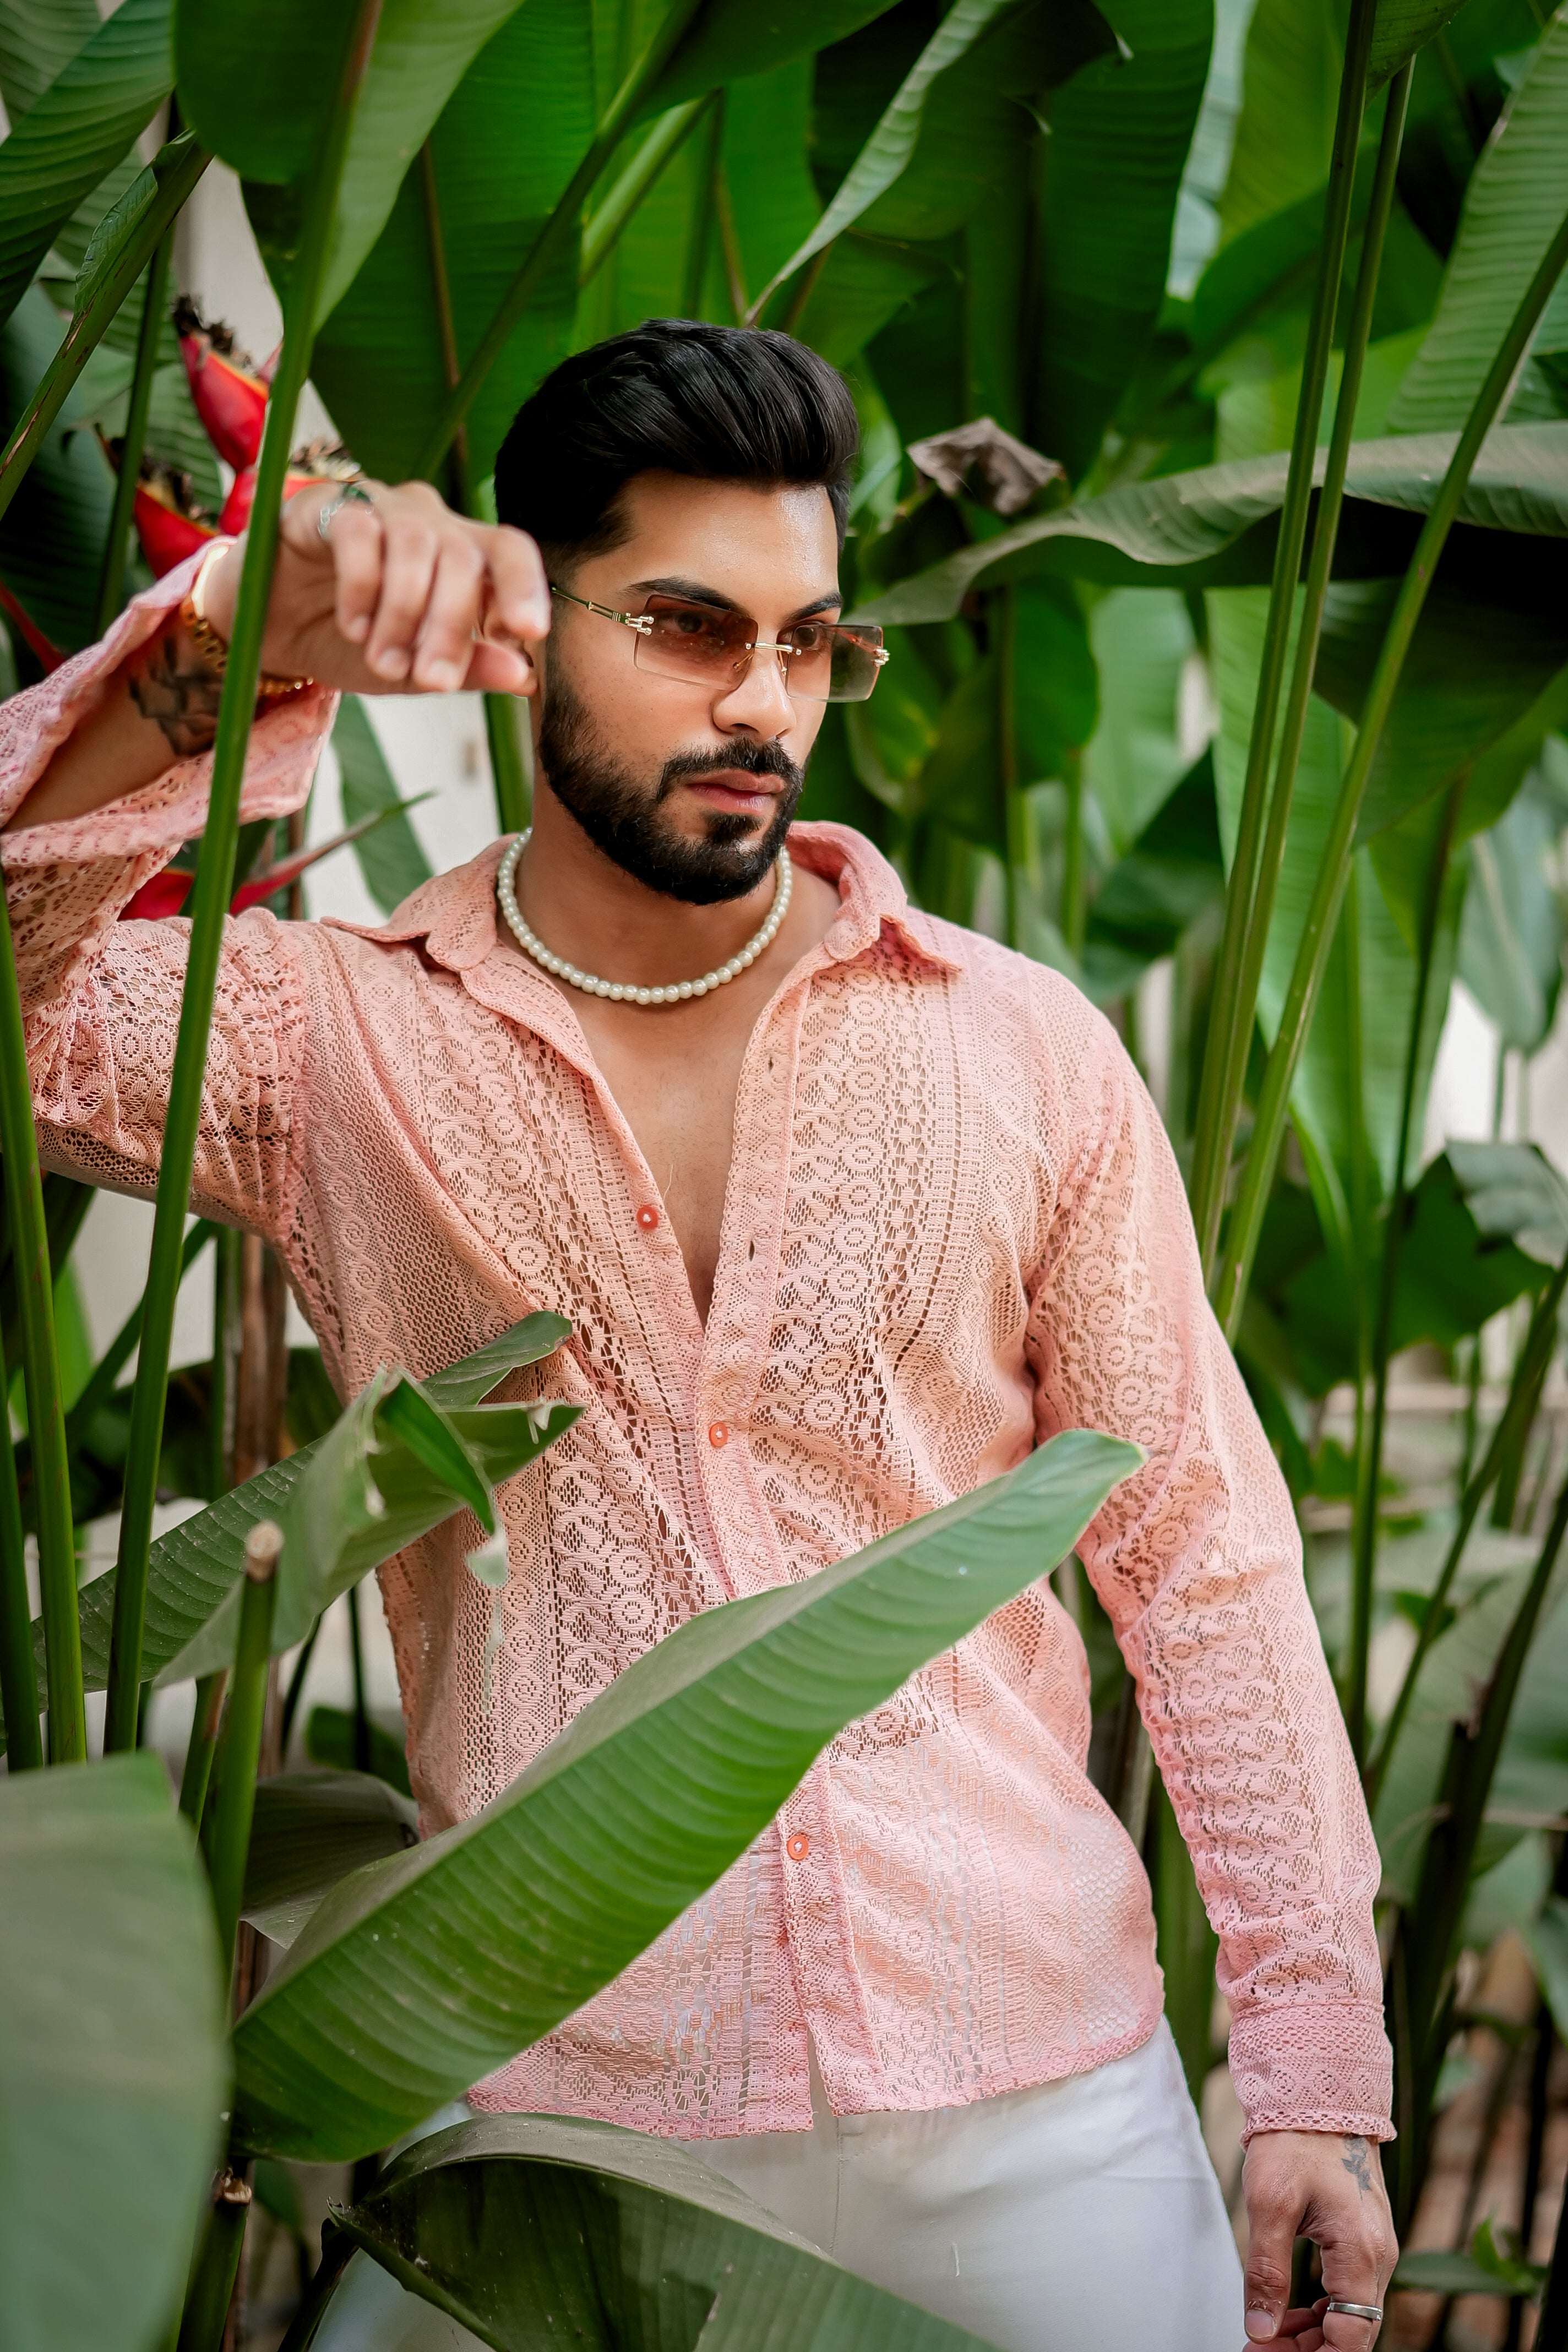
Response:
[{"label": "curled green leaf at bottom edge, in front of white trousers", "polygon": [[583,2117],[433,2133],[334,2225],[498,2352],[562,2338],[585,2352],[985,2352],[839,2270],[696,2152]]}]

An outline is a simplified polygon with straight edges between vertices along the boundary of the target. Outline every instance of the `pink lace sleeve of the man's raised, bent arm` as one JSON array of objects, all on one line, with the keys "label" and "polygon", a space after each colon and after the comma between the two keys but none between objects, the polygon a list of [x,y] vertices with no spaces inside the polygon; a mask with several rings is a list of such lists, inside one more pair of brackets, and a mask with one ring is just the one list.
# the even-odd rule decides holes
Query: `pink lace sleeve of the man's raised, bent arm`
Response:
[{"label": "pink lace sleeve of the man's raised, bent arm", "polygon": [[[136,597],[101,644],[0,710],[0,823],[99,706],[110,675],[183,597],[190,564]],[[287,816],[310,790],[334,699],[320,689],[252,734],[242,816]],[[158,1178],[190,924],[120,922],[132,894],[207,821],[212,753],[181,760],[106,809],[9,833],[5,889],[45,1160],[92,1183],[150,1192]],[[228,924],[219,969],[193,1202],[275,1232],[289,1167],[303,1002],[287,929],[266,913]]]}]

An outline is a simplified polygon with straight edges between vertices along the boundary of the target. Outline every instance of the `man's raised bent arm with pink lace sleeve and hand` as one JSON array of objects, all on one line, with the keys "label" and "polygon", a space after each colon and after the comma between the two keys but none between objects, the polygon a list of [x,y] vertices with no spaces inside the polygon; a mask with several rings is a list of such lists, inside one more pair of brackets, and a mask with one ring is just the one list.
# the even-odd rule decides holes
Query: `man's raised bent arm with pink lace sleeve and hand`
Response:
[{"label": "man's raised bent arm with pink lace sleeve and hand", "polygon": [[[454,515],[425,485],[371,485],[374,503],[341,506],[322,536],[331,496],[324,485],[284,508],[261,659],[310,684],[259,706],[247,818],[303,802],[331,689],[529,691],[524,644],[548,628],[538,550],[520,532]],[[42,1150],[122,1190],[150,1190],[158,1174],[188,924],[118,917],[205,826],[242,543],[202,560],[214,637],[181,616],[193,560],[136,597],[103,644],[0,708],[5,889]],[[261,1232],[277,1230],[284,1200],[296,953],[289,927],[254,910],[228,927],[219,969],[195,1200]]]}]

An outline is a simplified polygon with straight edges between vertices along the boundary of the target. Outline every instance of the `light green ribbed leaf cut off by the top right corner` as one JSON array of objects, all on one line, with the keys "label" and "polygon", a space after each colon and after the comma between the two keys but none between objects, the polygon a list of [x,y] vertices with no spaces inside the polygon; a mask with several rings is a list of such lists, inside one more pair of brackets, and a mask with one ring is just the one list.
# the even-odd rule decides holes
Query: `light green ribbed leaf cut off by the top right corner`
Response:
[{"label": "light green ribbed leaf cut off by the top right corner", "polygon": [[[1436,318],[1389,409],[1389,430],[1441,433],[1467,416],[1519,296],[1563,219],[1566,151],[1568,19],[1559,9],[1472,174]],[[1563,348],[1568,287],[1559,280],[1535,350]]]}]

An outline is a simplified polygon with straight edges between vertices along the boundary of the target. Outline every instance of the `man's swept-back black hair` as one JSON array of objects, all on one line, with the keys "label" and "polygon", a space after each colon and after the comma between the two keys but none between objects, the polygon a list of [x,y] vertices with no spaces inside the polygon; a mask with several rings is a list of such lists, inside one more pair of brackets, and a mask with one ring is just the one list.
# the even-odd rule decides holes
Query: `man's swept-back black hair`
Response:
[{"label": "man's swept-back black hair", "polygon": [[621,492],[658,468],[820,485],[842,546],[858,440],[844,376],[795,336],[649,318],[524,400],[496,456],[496,515],[552,553],[602,555],[623,536]]}]

